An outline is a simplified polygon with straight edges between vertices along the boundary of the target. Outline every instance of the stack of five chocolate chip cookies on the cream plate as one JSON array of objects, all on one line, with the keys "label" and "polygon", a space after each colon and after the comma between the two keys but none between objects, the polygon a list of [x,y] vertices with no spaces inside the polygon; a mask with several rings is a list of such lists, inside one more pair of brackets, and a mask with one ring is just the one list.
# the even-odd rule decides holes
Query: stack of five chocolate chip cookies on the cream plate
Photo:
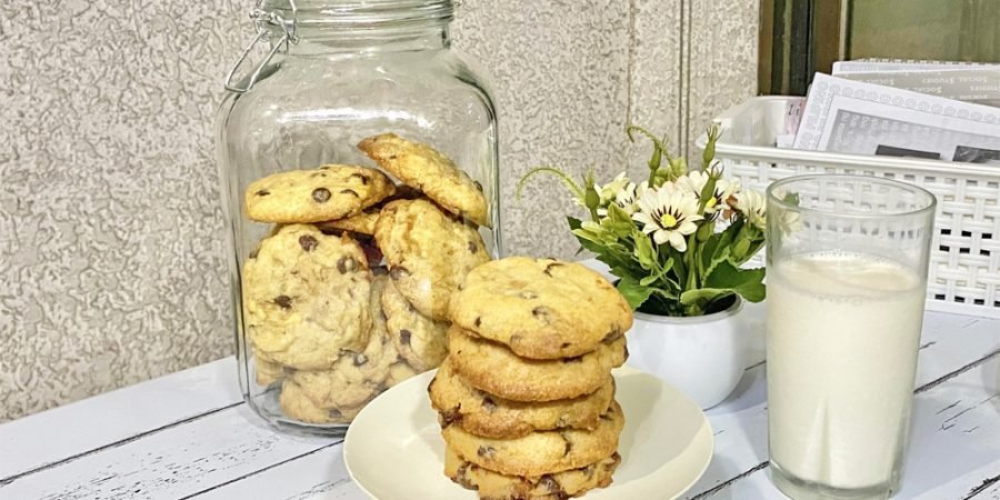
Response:
[{"label": "stack of five chocolate chip cookies on the cream plate", "polygon": [[632,313],[600,274],[553,259],[480,266],[452,296],[428,387],[444,473],[484,499],[562,499],[611,483],[624,424],[611,369]]}]

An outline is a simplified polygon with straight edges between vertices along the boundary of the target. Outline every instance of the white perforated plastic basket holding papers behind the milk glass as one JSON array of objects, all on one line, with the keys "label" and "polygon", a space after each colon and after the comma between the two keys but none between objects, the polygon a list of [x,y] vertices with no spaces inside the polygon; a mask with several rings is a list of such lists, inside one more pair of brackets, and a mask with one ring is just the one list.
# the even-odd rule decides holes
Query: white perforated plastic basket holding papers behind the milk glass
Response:
[{"label": "white perforated plastic basket holding papers behind the milk glass", "polygon": [[[764,189],[800,173],[854,173],[920,186],[938,198],[928,309],[1000,318],[1000,167],[774,147],[790,102],[751,98],[718,117],[716,158],[743,186]],[[697,144],[704,148],[702,134]]]}]

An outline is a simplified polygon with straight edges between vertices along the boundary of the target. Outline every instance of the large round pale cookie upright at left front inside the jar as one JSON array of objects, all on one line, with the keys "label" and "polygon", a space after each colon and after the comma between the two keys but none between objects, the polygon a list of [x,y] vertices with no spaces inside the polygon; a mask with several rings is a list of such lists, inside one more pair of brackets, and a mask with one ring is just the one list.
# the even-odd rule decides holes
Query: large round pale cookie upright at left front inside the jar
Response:
[{"label": "large round pale cookie upright at left front inside the jar", "polygon": [[289,224],[243,266],[243,321],[257,352],[300,370],[328,370],[371,331],[371,272],[350,237]]}]

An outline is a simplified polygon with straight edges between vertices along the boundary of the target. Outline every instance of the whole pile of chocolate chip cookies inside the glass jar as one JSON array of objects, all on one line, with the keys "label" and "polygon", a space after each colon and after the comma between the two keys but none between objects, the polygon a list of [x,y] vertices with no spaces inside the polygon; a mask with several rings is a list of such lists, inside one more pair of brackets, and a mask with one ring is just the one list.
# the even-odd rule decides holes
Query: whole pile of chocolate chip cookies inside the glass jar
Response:
[{"label": "whole pile of chocolate chip cookies inside the glass jar", "polygon": [[259,179],[244,198],[249,219],[274,224],[242,270],[256,381],[303,422],[349,422],[440,364],[451,294],[490,260],[481,187],[451,160],[394,134],[358,147],[399,183],[330,164]]}]

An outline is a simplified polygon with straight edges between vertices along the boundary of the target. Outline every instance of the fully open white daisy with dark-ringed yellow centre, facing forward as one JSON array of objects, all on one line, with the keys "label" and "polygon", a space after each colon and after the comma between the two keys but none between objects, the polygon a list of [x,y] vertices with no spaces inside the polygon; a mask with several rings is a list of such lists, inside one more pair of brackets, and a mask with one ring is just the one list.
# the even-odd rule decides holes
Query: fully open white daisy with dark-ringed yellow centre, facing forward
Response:
[{"label": "fully open white daisy with dark-ringed yellow centre, facing forward", "polygon": [[686,251],[684,237],[698,230],[698,197],[690,190],[667,182],[659,189],[648,189],[639,198],[639,211],[632,219],[643,224],[642,232],[652,234],[657,244],[669,242],[678,251]]}]

